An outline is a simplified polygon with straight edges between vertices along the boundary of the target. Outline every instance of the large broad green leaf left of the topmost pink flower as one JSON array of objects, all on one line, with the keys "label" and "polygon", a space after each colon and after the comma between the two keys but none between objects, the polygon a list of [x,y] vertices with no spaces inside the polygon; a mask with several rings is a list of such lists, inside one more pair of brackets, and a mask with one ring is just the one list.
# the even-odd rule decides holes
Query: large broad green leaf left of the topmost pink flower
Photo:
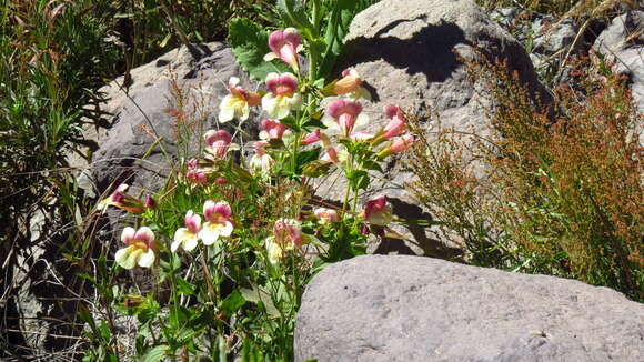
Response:
[{"label": "large broad green leaf left of the topmost pink flower", "polygon": [[270,52],[269,36],[261,26],[249,19],[235,18],[228,29],[232,53],[251,78],[263,81],[270,72],[289,71],[289,66],[282,61],[264,61],[264,56]]}]

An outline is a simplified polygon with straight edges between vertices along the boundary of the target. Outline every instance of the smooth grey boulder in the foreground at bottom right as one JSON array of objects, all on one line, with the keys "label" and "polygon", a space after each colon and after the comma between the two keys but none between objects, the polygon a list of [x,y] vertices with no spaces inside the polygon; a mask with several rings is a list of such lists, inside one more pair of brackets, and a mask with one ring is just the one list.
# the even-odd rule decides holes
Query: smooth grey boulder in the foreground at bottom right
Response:
[{"label": "smooth grey boulder in the foreground at bottom right", "polygon": [[359,257],[309,284],[295,360],[644,361],[644,305],[605,288],[442,260]]}]

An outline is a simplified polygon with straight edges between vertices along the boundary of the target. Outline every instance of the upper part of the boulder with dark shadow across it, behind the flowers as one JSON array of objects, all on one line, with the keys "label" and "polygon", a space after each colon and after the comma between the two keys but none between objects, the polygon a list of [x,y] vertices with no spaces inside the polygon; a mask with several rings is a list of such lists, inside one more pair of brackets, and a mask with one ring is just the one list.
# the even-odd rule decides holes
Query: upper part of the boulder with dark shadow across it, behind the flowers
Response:
[{"label": "upper part of the boulder with dark shadow across it, behind the flowers", "polygon": [[394,103],[421,119],[431,109],[446,124],[484,133],[489,122],[476,84],[457,58],[472,59],[475,47],[507,61],[532,92],[544,95],[523,47],[470,0],[384,0],[370,7],[351,23],[340,68],[355,68],[369,86],[374,102],[366,109],[378,125],[385,121],[382,107]]}]

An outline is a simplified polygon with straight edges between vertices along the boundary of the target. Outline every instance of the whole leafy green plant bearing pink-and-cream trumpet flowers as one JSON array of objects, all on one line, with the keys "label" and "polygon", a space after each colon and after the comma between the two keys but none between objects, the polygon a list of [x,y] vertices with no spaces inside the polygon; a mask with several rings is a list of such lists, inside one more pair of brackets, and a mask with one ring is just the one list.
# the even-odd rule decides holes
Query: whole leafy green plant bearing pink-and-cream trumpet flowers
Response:
[{"label": "whole leafy green plant bearing pink-and-cream trumpet flowers", "polygon": [[[292,20],[300,19],[294,2],[281,3]],[[152,323],[167,325],[154,338],[141,330],[139,353],[158,349],[187,360],[248,348],[270,360],[292,359],[303,286],[324,265],[365,253],[368,234],[393,222],[384,197],[362,204],[360,191],[382,172],[380,162],[409,148],[413,137],[395,105],[378,115],[390,119],[385,127],[369,131],[363,101],[370,97],[354,69],[329,82],[322,77],[334,50],[325,44],[324,56],[314,41],[322,31],[315,20],[320,6],[313,1],[310,27],[273,31],[253,50],[269,49],[253,59],[270,62],[273,71],[238,56],[268,91],[250,91],[231,78],[217,123],[227,130],[205,131],[203,153],[182,160],[150,207],[125,198],[124,188],[101,203],[135,214],[142,225],[123,231],[127,247],[114,254],[120,268],[113,272],[151,268],[157,282],[170,288],[168,305],[155,302],[154,290],[139,295],[127,283],[118,290],[137,301],[125,305],[117,295],[122,313],[137,315],[148,331]],[[231,37],[234,48],[239,39],[232,30]],[[301,53],[309,56],[308,73]],[[240,130],[253,108],[262,115],[260,140],[238,147],[228,130]],[[340,205],[313,194],[316,179],[331,172],[348,181]]]}]

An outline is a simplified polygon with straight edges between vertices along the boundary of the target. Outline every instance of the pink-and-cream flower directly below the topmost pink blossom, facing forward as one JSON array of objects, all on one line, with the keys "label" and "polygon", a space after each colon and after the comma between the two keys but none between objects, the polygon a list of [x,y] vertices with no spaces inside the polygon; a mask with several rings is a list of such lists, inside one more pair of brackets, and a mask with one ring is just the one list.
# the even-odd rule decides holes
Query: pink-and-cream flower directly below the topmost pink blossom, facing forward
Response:
[{"label": "pink-and-cream flower directly below the topmost pink blossom, facing forward", "polygon": [[296,93],[298,78],[292,73],[269,73],[266,87],[270,92],[262,98],[262,108],[269,117],[281,120],[302,105],[302,97]]}]

